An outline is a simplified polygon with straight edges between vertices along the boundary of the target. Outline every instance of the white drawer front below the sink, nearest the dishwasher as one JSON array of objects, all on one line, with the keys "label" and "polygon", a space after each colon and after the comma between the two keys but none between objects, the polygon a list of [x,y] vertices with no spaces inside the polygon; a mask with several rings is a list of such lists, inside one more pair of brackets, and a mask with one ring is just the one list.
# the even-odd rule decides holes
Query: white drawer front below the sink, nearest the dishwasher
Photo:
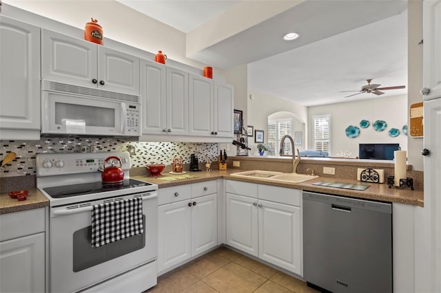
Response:
[{"label": "white drawer front below the sink, nearest the dishwasher", "polygon": [[302,191],[300,189],[258,184],[258,198],[266,199],[290,206],[301,206]]}]

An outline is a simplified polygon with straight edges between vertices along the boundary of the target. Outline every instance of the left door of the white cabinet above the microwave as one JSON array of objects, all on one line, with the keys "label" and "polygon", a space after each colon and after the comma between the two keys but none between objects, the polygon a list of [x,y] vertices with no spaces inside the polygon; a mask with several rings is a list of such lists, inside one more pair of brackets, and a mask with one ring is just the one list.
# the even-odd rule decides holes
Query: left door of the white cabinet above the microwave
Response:
[{"label": "left door of the white cabinet above the microwave", "polygon": [[96,43],[41,30],[42,78],[61,83],[96,87]]}]

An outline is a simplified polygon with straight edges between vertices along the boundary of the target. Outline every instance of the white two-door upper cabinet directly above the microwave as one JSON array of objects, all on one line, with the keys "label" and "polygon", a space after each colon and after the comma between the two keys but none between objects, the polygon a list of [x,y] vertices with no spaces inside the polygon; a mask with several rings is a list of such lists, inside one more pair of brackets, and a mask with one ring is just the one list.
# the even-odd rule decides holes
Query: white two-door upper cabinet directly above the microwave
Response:
[{"label": "white two-door upper cabinet directly above the microwave", "polygon": [[139,95],[138,57],[51,30],[41,39],[43,79]]}]

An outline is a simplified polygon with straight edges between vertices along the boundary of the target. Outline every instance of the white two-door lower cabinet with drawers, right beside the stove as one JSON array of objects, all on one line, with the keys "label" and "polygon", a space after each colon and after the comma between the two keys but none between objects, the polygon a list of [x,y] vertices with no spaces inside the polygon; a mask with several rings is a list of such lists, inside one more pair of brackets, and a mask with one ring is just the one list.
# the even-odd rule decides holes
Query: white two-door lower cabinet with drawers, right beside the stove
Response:
[{"label": "white two-door lower cabinet with drawers, right beside the stove", "polygon": [[217,246],[216,190],[216,180],[159,189],[159,274]]}]

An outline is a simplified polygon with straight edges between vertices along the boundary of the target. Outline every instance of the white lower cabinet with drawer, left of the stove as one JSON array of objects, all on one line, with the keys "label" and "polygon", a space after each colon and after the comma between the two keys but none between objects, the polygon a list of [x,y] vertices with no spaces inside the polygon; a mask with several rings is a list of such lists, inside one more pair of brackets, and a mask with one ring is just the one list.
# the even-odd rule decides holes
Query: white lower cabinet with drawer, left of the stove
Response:
[{"label": "white lower cabinet with drawer, left of the stove", "polygon": [[0,292],[45,292],[45,209],[0,216]]}]

